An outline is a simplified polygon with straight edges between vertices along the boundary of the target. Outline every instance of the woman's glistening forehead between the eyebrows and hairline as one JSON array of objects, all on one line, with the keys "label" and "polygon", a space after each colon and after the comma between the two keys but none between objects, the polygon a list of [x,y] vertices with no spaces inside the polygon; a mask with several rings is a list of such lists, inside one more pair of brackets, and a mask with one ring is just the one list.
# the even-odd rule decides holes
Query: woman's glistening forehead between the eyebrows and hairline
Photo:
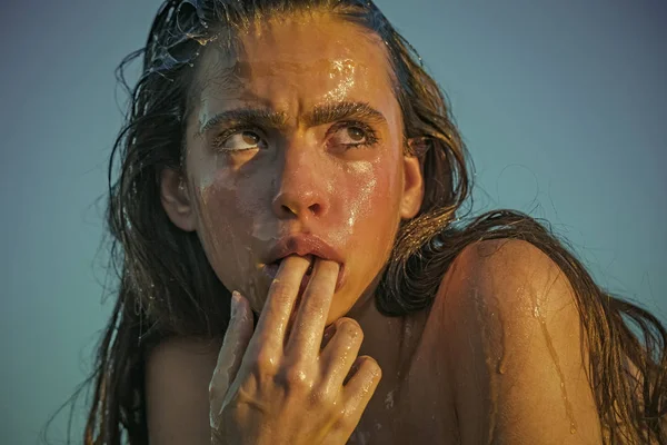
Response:
[{"label": "woman's glistening forehead between the eyebrows and hairline", "polygon": [[197,73],[203,102],[251,100],[285,109],[394,100],[381,40],[354,23],[325,14],[267,20],[239,42],[236,52],[213,46],[203,53]]}]

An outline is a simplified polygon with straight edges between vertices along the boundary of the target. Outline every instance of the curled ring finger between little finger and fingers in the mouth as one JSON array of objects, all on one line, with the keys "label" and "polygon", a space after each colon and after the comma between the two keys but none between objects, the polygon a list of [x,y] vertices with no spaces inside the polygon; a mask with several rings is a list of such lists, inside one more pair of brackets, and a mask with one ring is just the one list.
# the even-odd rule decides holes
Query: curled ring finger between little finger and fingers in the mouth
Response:
[{"label": "curled ring finger between little finger and fingers in the mouth", "polygon": [[322,382],[326,382],[328,389],[337,390],[357,359],[364,332],[351,318],[339,318],[332,326],[336,332],[320,353],[320,363]]}]

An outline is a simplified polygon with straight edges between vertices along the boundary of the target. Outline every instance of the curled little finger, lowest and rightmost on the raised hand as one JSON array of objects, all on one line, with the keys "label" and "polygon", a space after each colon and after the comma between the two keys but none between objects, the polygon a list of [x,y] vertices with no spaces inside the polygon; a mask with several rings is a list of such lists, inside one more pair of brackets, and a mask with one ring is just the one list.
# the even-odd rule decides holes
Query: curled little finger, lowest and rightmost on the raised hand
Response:
[{"label": "curled little finger, lowest and rightmost on the raised hand", "polygon": [[367,355],[357,357],[349,380],[342,388],[347,424],[359,423],[381,378],[382,369],[372,357]]}]

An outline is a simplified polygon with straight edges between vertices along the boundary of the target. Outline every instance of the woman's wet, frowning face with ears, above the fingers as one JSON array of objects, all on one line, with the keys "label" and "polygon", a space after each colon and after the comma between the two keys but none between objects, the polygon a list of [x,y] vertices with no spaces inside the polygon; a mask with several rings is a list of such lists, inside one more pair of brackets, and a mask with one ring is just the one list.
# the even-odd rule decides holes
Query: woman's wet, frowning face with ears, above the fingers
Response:
[{"label": "woman's wet, frowning face with ears, above the fingers", "polygon": [[[207,48],[187,122],[187,178],[162,177],[222,284],[261,309],[276,256],[341,264],[328,323],[370,296],[421,204],[379,39],[327,16],[270,21],[238,55]],[[267,266],[268,265],[268,266]]]}]

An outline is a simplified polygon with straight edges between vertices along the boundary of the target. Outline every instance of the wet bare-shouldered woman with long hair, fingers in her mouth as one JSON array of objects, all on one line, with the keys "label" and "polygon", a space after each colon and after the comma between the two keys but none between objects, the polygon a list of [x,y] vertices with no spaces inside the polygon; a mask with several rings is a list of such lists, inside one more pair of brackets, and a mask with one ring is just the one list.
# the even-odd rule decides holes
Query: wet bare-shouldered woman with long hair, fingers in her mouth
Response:
[{"label": "wet bare-shouldered woman with long hair, fingers in her mouth", "polygon": [[139,56],[87,444],[667,441],[664,327],[530,217],[459,222],[460,136],[370,1],[167,1]]}]

